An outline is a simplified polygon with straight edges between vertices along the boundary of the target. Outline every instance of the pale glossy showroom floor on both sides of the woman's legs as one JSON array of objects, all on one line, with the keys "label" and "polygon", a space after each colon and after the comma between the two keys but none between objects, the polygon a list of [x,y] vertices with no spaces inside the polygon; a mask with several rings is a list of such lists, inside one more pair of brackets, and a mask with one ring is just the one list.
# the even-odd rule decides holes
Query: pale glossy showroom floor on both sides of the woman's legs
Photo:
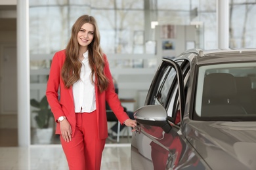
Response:
[{"label": "pale glossy showroom floor on both sides of the woman's legs", "polygon": [[[11,119],[0,116],[0,170],[57,170],[68,169],[68,163],[60,144],[18,147],[18,130]],[[4,127],[3,127],[4,126]],[[101,170],[131,169],[131,138],[120,137],[119,143],[106,140],[102,154]]]}]

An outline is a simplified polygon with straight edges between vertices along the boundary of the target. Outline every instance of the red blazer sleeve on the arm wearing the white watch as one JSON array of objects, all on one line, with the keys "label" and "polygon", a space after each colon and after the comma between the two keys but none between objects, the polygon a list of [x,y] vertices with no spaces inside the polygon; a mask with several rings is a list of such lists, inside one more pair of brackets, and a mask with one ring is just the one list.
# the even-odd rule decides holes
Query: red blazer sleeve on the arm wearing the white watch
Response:
[{"label": "red blazer sleeve on the arm wearing the white watch", "polygon": [[64,112],[62,111],[62,107],[58,101],[58,89],[60,87],[60,71],[62,69],[62,59],[60,59],[61,55],[63,54],[60,52],[56,52],[56,54],[54,54],[53,56],[46,90],[47,101],[51,107],[56,121],[60,116],[65,116]]}]

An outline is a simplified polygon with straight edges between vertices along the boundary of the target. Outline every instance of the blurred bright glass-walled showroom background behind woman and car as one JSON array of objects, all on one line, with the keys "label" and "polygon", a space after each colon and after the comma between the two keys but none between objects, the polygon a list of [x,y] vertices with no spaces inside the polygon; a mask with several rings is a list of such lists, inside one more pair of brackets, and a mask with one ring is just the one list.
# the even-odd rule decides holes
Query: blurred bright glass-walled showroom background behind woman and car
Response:
[{"label": "blurred bright glass-walled showroom background behind woman and car", "polygon": [[[51,59],[66,48],[79,16],[96,18],[121,103],[134,112],[144,105],[162,58],[174,58],[190,48],[218,48],[217,10],[213,0],[1,0],[0,146],[60,144],[45,90]],[[230,0],[228,10],[229,47],[255,48],[256,1]],[[18,51],[18,46],[28,53]],[[19,76],[20,70],[28,75]],[[18,89],[24,91],[24,101]],[[109,128],[114,124],[109,121]],[[131,129],[125,127],[107,143],[130,140]]]}]

